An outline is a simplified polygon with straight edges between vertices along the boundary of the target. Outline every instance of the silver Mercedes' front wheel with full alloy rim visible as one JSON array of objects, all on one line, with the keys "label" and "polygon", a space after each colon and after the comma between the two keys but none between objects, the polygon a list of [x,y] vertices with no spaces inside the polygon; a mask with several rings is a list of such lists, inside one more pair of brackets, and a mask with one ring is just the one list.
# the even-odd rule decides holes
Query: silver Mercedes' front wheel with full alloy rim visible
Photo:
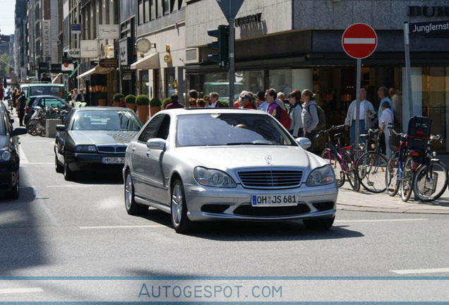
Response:
[{"label": "silver Mercedes' front wheel with full alloy rim visible", "polygon": [[176,179],[172,185],[172,202],[170,211],[172,225],[176,233],[185,234],[191,231],[192,222],[187,217],[186,196],[181,180]]}]

